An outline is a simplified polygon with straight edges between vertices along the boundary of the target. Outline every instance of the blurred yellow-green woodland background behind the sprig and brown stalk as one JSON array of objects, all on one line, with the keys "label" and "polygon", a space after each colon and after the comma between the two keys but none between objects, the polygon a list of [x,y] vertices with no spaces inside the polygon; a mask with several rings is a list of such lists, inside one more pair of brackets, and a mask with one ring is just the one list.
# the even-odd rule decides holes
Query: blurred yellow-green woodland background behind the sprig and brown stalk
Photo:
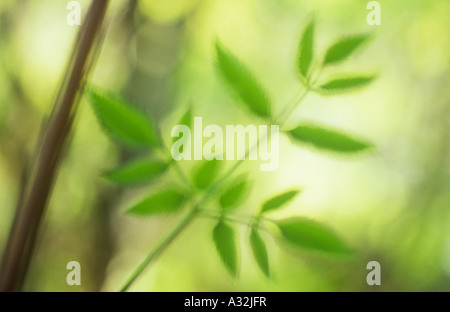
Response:
[{"label": "blurred yellow-green woodland background behind the sprig and brown stalk", "polygon": [[[85,14],[89,1],[79,2]],[[340,68],[379,73],[358,92],[309,95],[290,118],[291,126],[315,120],[367,138],[377,146],[374,153],[335,157],[282,136],[277,171],[261,172],[255,162],[242,168],[255,182],[244,209],[303,187],[285,213],[329,224],[358,250],[354,261],[293,254],[268,239],[269,280],[250,255],[247,229],[240,228],[241,270],[234,280],[214,250],[214,224],[198,220],[131,290],[450,291],[450,2],[381,0],[380,26],[367,25],[367,2],[112,1],[91,81],[152,115],[168,141],[189,103],[204,124],[258,123],[222,86],[214,68],[216,38],[267,86],[277,110],[300,87],[295,54],[312,16],[318,51],[344,35],[374,33]],[[65,6],[56,0],[0,2],[0,253],[79,29],[66,24]],[[123,214],[154,185],[119,189],[100,174],[132,156],[111,143],[83,100],[25,290],[118,290],[177,223],[177,217]],[[183,168],[189,173],[194,165]],[[81,264],[81,286],[66,284],[72,260]],[[381,286],[366,284],[371,260],[381,264]]]}]

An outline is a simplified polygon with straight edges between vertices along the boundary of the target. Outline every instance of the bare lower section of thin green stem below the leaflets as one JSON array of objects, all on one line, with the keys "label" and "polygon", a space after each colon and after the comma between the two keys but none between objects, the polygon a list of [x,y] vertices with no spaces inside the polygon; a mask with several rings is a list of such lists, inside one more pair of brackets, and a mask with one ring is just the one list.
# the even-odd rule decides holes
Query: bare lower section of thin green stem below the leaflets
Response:
[{"label": "bare lower section of thin green stem below the leaflets", "polygon": [[139,277],[139,275],[145,270],[145,268],[158,257],[166,247],[172,243],[172,241],[191,223],[194,217],[197,215],[198,210],[193,209],[189,214],[177,225],[177,227],[170,232],[170,234],[145,258],[145,260],[137,267],[137,269],[131,274],[127,282],[122,286],[120,292],[127,291],[133,282]]}]

